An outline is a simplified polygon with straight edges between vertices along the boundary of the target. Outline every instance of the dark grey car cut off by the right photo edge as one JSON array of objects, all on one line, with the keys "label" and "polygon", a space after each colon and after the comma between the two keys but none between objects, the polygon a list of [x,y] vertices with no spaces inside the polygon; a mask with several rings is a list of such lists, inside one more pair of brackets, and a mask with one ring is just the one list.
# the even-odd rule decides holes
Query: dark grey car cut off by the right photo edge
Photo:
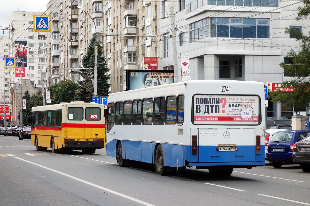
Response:
[{"label": "dark grey car cut off by the right photo edge", "polygon": [[305,172],[310,172],[310,135],[295,143],[293,161]]}]

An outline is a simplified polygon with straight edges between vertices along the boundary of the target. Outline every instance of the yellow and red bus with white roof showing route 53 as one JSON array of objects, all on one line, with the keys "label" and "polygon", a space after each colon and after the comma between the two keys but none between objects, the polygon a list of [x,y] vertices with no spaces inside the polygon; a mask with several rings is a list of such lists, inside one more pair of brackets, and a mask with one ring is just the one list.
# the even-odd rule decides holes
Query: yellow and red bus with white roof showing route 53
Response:
[{"label": "yellow and red bus with white roof showing route 53", "polygon": [[104,105],[74,101],[33,107],[31,144],[37,150],[82,150],[105,147]]}]

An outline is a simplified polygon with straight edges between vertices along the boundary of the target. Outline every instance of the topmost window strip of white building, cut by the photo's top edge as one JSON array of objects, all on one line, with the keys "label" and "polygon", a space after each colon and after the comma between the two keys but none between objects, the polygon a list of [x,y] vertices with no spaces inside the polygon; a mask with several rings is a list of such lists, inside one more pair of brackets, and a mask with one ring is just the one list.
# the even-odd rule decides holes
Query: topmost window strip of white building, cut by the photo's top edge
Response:
[{"label": "topmost window strip of white building, cut by the photo's top edge", "polygon": [[209,5],[226,5],[226,6],[270,6],[270,7],[277,7],[278,1],[276,0],[246,0],[246,1],[239,1],[239,0],[208,0]]}]

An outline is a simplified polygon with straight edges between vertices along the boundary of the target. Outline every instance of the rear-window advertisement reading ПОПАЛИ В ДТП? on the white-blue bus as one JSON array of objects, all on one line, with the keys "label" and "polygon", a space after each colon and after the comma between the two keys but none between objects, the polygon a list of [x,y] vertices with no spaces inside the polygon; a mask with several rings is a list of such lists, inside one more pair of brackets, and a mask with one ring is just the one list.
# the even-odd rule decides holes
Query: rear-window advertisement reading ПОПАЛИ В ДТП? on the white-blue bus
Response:
[{"label": "rear-window advertisement reading \u041f\u041e\u041f\u0410\u041b\u0418 \u0412 \u0414\u0422\u041f? on the white-blue bus", "polygon": [[194,124],[260,124],[259,96],[194,95]]}]

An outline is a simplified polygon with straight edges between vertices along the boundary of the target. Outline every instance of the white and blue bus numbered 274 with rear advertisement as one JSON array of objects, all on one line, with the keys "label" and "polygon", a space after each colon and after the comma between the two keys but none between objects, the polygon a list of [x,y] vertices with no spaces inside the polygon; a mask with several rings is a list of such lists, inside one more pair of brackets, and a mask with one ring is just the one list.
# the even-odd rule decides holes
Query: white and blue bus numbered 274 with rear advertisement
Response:
[{"label": "white and blue bus numbered 274 with rear advertisement", "polygon": [[107,115],[107,155],[120,166],[134,160],[160,175],[192,166],[230,175],[265,164],[263,82],[193,80],[113,93]]}]

